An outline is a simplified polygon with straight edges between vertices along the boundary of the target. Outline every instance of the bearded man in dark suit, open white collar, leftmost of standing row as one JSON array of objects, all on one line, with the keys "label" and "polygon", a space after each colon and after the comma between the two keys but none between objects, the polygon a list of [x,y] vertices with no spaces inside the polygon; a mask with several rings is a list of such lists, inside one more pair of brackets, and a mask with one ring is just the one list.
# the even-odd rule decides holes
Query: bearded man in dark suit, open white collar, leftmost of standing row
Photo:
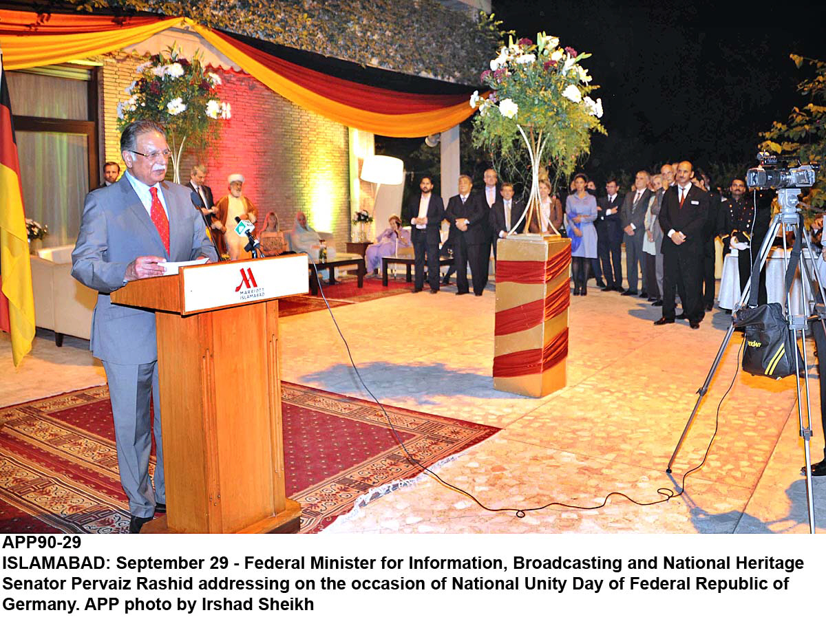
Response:
[{"label": "bearded man in dark suit, open white collar, leftmost of standing row", "polygon": [[439,195],[433,194],[433,181],[425,176],[419,182],[421,193],[411,196],[407,205],[416,215],[411,219],[411,239],[415,255],[416,294],[425,287],[425,260],[427,261],[427,282],[430,293],[439,291],[439,228],[444,219],[444,202]]}]

